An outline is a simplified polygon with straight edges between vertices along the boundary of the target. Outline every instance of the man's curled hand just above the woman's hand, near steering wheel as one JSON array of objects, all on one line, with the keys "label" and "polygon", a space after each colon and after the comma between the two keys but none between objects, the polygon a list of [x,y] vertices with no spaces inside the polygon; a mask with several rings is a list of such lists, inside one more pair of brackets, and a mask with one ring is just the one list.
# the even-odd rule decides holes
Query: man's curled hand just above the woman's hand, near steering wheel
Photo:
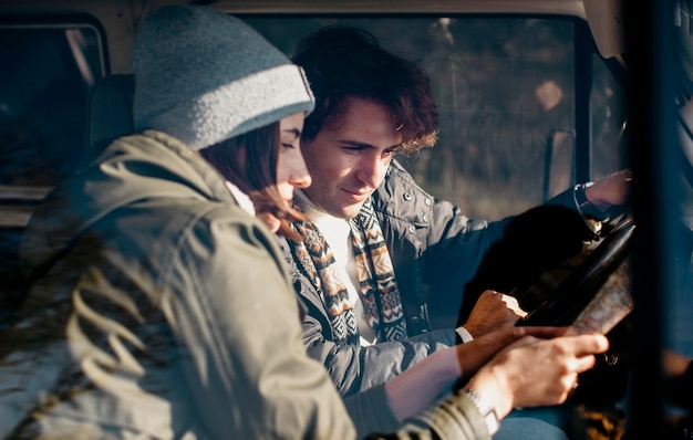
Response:
[{"label": "man's curled hand just above the woman's hand, near steering wheel", "polygon": [[479,337],[495,329],[515,326],[527,312],[517,298],[496,291],[485,291],[477,300],[464,327],[472,336]]}]

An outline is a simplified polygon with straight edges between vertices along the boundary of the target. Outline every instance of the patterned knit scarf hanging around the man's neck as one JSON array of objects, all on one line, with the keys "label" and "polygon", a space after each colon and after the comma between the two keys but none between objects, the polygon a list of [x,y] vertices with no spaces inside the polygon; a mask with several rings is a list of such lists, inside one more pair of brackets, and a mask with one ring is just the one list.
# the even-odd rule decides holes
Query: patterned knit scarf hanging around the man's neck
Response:
[{"label": "patterned knit scarf hanging around the man's neck", "polygon": [[[294,199],[296,200],[296,199]],[[298,200],[297,200],[298,201]],[[297,209],[302,209],[298,201]],[[406,322],[394,275],[392,260],[369,199],[359,216],[349,220],[353,252],[360,281],[360,297],[368,322],[379,342],[406,337]],[[293,228],[303,241],[290,241],[297,265],[321,293],[338,344],[359,344],[359,326],[346,287],[334,275],[334,256],[320,231],[309,221],[296,222]]]}]

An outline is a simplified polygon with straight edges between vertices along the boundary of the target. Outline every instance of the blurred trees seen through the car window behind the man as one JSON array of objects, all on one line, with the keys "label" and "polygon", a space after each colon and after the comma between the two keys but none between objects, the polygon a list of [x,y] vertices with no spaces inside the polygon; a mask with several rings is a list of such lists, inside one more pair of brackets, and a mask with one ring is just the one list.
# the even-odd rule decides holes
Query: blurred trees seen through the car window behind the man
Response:
[{"label": "blurred trees seen through the car window behind the man", "polygon": [[[369,30],[391,51],[428,72],[438,105],[438,143],[399,157],[417,182],[469,217],[497,219],[542,201],[547,136],[575,128],[576,24],[562,19],[479,17],[244,17],[287,54],[318,28],[340,23]],[[599,158],[619,167],[621,105],[614,82],[596,73],[592,101]],[[617,105],[617,106],[618,106]],[[611,106],[611,107],[610,107]],[[570,144],[569,136],[557,140]],[[603,145],[602,145],[603,144]],[[597,145],[597,144],[596,144]],[[570,158],[560,189],[571,182]]]}]

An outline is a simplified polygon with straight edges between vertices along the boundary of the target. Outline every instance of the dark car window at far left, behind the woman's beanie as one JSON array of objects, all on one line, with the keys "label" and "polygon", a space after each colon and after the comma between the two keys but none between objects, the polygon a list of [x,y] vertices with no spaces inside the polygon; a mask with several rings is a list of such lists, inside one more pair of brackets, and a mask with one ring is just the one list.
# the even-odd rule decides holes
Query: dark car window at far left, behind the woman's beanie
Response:
[{"label": "dark car window at far left, behind the woman's beanie", "polygon": [[54,186],[76,169],[99,46],[91,27],[0,27],[0,185]]}]

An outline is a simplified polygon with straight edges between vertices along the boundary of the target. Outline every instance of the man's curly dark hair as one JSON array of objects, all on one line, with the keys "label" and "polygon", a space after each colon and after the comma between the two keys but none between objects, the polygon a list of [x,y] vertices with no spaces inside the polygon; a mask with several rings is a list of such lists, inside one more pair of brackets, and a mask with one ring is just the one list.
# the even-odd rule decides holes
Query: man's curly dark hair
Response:
[{"label": "man's curly dark hair", "polygon": [[407,155],[433,146],[438,112],[427,73],[413,62],[383,48],[370,32],[329,25],[304,36],[292,61],[303,67],[316,95],[303,138],[311,140],[323,124],[338,124],[348,97],[372,99],[389,108],[402,133],[400,153]]}]

